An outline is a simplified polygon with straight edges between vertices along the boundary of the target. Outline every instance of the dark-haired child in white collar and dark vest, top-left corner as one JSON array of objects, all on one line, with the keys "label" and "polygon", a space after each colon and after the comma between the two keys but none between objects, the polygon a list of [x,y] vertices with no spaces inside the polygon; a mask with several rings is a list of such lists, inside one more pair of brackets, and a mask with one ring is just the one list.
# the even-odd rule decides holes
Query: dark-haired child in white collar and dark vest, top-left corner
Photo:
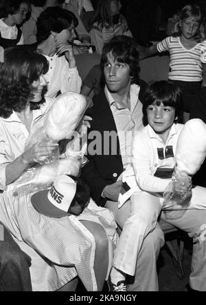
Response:
[{"label": "dark-haired child in white collar and dark vest, top-left corner", "polygon": [[0,46],[5,49],[23,45],[20,26],[30,14],[30,1],[6,0],[0,7]]}]

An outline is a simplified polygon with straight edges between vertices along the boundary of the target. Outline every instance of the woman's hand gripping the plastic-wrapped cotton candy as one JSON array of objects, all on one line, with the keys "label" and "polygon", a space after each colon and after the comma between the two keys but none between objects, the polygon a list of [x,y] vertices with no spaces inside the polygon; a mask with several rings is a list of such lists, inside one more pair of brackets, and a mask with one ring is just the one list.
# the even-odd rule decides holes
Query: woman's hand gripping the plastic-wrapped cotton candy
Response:
[{"label": "woman's hand gripping the plastic-wrapped cotton candy", "polygon": [[22,156],[22,160],[25,164],[33,164],[35,162],[41,162],[43,158],[47,158],[52,154],[54,149],[58,147],[58,143],[36,143],[32,147],[26,149]]}]

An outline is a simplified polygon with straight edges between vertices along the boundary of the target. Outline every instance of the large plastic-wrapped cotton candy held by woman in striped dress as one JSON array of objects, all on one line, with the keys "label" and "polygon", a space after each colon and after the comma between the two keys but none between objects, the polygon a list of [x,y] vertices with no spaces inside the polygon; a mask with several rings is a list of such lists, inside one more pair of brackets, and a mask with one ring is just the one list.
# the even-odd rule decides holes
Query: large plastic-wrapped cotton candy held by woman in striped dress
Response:
[{"label": "large plastic-wrapped cotton candy held by woman in striped dress", "polygon": [[57,147],[49,156],[36,158],[36,163],[10,184],[8,191],[13,195],[26,195],[49,188],[57,175],[79,175],[80,168],[87,162],[84,157],[87,143],[82,145],[81,134],[75,129],[81,125],[85,110],[86,100],[82,95],[64,93],[57,97],[43,116],[34,121],[25,149],[39,143],[64,143],[67,139],[65,151],[60,154]]}]

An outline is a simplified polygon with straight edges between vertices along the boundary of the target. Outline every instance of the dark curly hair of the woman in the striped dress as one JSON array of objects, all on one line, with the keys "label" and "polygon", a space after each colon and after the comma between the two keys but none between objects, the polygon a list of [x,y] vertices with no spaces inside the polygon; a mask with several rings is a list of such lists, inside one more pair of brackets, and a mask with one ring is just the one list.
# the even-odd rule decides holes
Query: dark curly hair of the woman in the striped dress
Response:
[{"label": "dark curly hair of the woman in the striped dress", "polygon": [[[13,110],[21,112],[33,98],[32,84],[47,73],[49,63],[45,56],[23,46],[5,49],[4,63],[0,67],[0,117],[7,119]],[[41,103],[32,103],[31,109]]]}]

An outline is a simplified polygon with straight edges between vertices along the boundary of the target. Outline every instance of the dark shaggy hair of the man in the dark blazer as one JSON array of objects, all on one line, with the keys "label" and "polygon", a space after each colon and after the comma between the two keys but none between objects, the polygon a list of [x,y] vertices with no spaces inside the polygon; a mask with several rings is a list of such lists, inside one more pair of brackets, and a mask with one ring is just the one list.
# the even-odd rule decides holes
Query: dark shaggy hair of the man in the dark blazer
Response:
[{"label": "dark shaggy hair of the man in the dark blazer", "polygon": [[104,71],[108,53],[112,53],[114,60],[124,62],[130,67],[132,83],[139,82],[139,47],[137,42],[128,36],[115,36],[107,42],[102,50],[101,67]]}]

